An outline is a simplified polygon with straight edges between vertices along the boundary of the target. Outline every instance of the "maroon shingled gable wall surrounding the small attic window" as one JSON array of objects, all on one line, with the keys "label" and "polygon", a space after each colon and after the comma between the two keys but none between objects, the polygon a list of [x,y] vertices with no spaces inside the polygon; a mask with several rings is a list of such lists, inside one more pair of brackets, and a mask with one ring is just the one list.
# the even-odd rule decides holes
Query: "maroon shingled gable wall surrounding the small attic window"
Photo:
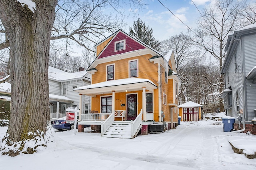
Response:
[{"label": "maroon shingled gable wall surrounding the small attic window", "polygon": [[[125,49],[116,51],[115,52],[115,42],[121,41],[125,39]],[[129,51],[135,51],[139,49],[145,49],[146,47],[142,44],[138,43],[134,39],[130,38],[128,35],[124,34],[123,32],[119,31],[113,39],[109,42],[109,44],[102,50],[100,55],[98,56],[98,59],[112,56],[112,55],[118,55],[122,53],[127,53]]]}]

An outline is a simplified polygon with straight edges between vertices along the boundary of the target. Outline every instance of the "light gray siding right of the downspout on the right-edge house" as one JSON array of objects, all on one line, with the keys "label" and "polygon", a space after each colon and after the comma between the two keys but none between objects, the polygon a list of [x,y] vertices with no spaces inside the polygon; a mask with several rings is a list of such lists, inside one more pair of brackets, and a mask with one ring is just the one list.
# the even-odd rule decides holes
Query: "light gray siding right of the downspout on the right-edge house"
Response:
[{"label": "light gray siding right of the downspout on the right-edge house", "polygon": [[[244,57],[245,57],[245,76],[250,70],[256,66],[256,36],[249,35],[243,37]],[[252,80],[246,80],[246,104],[248,121],[254,118],[254,109],[256,109],[256,84],[252,84]]]}]

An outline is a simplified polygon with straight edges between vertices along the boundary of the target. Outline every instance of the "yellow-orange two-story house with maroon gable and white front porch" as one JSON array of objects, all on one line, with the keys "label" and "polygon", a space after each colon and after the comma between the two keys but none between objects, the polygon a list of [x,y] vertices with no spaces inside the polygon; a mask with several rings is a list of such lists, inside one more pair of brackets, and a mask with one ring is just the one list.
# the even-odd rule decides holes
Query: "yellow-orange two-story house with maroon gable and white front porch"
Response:
[{"label": "yellow-orange two-story house with maroon gable and white front porch", "polygon": [[173,51],[159,53],[122,29],[95,48],[96,59],[86,70],[92,74],[91,85],[74,89],[92,97],[91,113],[79,114],[79,131],[82,125],[101,125],[102,136],[114,137],[106,134],[108,126],[131,122],[135,133],[123,136],[133,138],[141,127],[146,135],[151,124],[162,123],[166,129],[177,125],[180,79]]}]

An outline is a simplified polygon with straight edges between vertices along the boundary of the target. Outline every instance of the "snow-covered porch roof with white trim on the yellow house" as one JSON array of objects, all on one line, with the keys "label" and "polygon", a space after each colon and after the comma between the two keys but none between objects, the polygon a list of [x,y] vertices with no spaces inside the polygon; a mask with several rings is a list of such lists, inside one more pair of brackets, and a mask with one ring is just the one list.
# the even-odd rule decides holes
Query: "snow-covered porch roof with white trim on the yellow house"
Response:
[{"label": "snow-covered porch roof with white trim on the yellow house", "polygon": [[125,78],[119,80],[110,80],[106,82],[100,82],[96,84],[91,84],[88,86],[83,86],[75,88],[74,91],[79,92],[80,94],[93,96],[99,94],[109,94],[112,91],[115,92],[128,92],[142,90],[142,87],[146,87],[146,90],[153,92],[157,88],[151,80],[142,79],[142,78]]}]

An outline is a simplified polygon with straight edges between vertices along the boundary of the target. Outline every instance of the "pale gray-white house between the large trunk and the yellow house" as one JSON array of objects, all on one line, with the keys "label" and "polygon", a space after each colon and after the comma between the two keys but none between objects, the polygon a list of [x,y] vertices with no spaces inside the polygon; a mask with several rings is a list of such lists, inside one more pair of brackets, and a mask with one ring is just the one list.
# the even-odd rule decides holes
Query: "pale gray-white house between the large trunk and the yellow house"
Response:
[{"label": "pale gray-white house between the large trunk and the yellow house", "polygon": [[[66,116],[66,108],[79,106],[80,95],[74,88],[91,84],[91,74],[83,68],[81,71],[69,73],[49,66],[49,100],[51,121]],[[82,95],[82,113],[90,109],[90,96]],[[58,114],[57,114],[58,113]]]}]

